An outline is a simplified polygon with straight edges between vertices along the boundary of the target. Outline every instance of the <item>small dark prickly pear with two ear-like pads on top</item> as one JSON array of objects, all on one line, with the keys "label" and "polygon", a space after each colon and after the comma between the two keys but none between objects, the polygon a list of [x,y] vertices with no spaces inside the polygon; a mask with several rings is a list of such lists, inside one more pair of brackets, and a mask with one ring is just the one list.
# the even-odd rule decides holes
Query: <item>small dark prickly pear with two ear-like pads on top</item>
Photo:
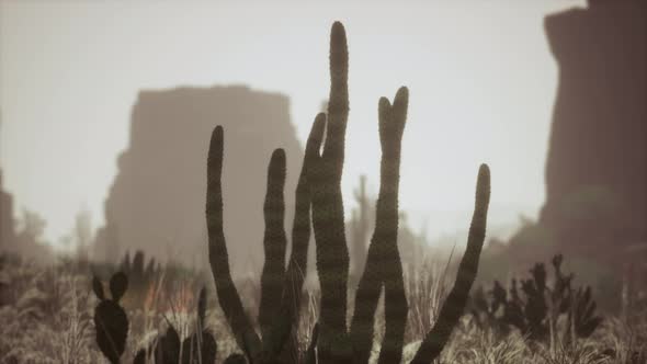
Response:
[{"label": "small dark prickly pear with two ear-like pads on top", "polygon": [[120,299],[128,287],[128,278],[122,272],[115,273],[110,280],[112,298],[106,298],[103,284],[98,277],[92,280],[92,289],[100,299],[94,308],[94,327],[97,329],[97,344],[111,363],[120,363],[120,357],[126,348],[128,337],[128,318],[120,306]]}]

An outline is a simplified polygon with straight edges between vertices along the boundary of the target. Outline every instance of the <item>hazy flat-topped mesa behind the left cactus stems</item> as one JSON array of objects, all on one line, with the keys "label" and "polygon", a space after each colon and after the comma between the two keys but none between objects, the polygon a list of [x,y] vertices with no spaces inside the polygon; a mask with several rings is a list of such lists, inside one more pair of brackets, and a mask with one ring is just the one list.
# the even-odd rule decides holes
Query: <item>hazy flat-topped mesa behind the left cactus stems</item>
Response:
[{"label": "hazy flat-topped mesa behind the left cactus stems", "polygon": [[234,274],[262,266],[263,198],[270,156],[287,155],[286,221],[303,149],[288,99],[247,87],[180,88],[139,93],[128,149],[105,202],[95,253],[116,261],[144,250],[158,261],[206,263],[206,156],[211,133],[225,129],[225,236]]}]

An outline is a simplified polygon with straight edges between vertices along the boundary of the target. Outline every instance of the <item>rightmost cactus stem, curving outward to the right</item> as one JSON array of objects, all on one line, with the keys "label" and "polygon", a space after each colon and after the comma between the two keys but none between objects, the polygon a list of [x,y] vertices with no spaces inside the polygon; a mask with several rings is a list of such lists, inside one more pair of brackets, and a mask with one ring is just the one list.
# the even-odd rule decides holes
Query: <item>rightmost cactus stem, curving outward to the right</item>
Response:
[{"label": "rightmost cactus stem, curving outward to the right", "polygon": [[478,270],[478,259],[485,240],[489,201],[490,171],[487,164],[481,164],[478,171],[476,202],[472,225],[469,226],[467,249],[458,265],[456,282],[441,307],[435,325],[422,341],[411,364],[428,364],[440,355],[465,309],[467,295]]}]

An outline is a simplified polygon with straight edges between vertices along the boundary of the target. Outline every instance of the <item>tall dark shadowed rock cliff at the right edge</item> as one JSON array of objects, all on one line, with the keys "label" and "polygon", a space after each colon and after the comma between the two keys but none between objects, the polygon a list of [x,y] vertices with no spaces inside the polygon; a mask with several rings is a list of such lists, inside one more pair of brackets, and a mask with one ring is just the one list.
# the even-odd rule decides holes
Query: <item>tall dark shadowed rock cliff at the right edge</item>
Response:
[{"label": "tall dark shadowed rock cliff at the right edge", "polygon": [[549,15],[559,67],[540,224],[555,250],[615,260],[647,241],[647,1]]}]

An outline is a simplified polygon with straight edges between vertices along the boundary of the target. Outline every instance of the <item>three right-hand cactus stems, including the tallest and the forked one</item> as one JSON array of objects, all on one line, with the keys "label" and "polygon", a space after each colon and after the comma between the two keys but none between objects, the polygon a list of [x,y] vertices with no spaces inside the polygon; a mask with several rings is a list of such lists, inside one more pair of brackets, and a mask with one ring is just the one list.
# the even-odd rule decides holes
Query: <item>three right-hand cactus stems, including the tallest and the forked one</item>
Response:
[{"label": "three right-hand cactus stems, including the tallest and the forked one", "polygon": [[[332,26],[330,44],[328,133],[321,156],[315,158],[316,161],[309,169],[313,175],[309,180],[313,191],[317,269],[321,281],[321,333],[318,359],[319,363],[367,362],[373,340],[374,315],[381,289],[384,287],[386,332],[378,361],[397,363],[401,357],[408,310],[402,265],[397,250],[400,146],[407,115],[408,90],[398,90],[393,105],[385,98],[379,100],[382,167],[376,224],[368,248],[366,269],[356,292],[355,310],[349,333],[345,327],[348,250],[343,235],[343,203],[340,189],[349,105],[348,49],[341,23]],[[484,164],[478,175],[476,206],[467,250],[461,262],[456,283],[441,308],[434,328],[424,338],[413,363],[428,363],[438,357],[465,308],[485,240],[489,190],[489,169]],[[350,341],[347,340],[349,335]]]}]

